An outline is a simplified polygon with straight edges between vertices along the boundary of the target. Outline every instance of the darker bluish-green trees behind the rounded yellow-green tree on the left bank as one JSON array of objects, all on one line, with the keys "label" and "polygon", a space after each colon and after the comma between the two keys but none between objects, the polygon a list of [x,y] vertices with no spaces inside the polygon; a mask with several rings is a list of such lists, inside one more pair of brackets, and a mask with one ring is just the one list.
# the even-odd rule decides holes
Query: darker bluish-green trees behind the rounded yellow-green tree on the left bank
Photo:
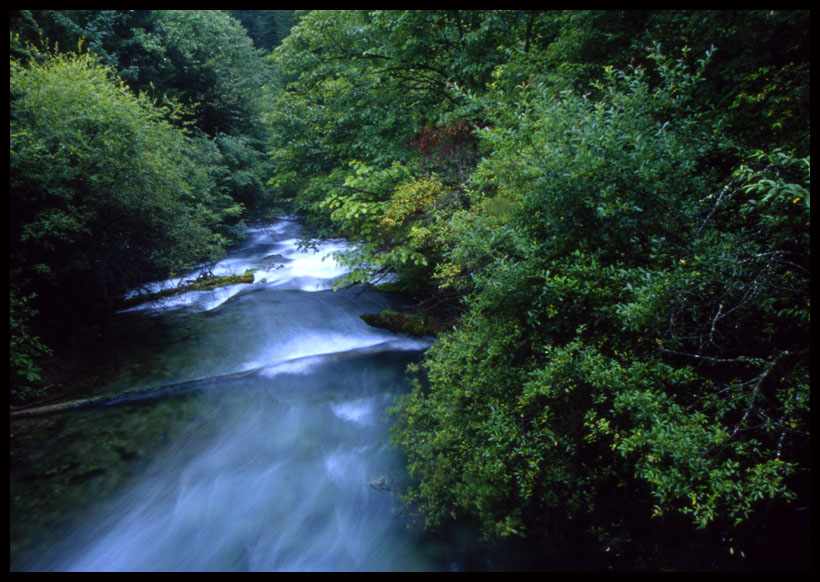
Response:
[{"label": "darker bluish-green trees behind the rounded yellow-green tree on the left bank", "polygon": [[[11,21],[12,50],[83,50],[97,55],[136,92],[183,104],[174,123],[216,146],[208,163],[219,187],[251,217],[272,204],[268,133],[262,123],[269,67],[245,29],[223,11],[38,10]],[[211,141],[212,144],[205,143]]]}]

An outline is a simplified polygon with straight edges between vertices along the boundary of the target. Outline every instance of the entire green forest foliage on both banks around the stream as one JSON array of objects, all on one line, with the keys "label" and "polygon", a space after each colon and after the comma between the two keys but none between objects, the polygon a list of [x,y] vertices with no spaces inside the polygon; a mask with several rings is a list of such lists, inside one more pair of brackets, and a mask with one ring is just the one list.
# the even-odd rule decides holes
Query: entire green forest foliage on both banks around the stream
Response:
[{"label": "entire green forest foliage on both banks around the stream", "polygon": [[34,311],[287,210],[355,243],[347,283],[394,275],[437,323],[392,409],[428,526],[596,568],[808,567],[808,11],[17,11],[11,32],[18,394]]}]

